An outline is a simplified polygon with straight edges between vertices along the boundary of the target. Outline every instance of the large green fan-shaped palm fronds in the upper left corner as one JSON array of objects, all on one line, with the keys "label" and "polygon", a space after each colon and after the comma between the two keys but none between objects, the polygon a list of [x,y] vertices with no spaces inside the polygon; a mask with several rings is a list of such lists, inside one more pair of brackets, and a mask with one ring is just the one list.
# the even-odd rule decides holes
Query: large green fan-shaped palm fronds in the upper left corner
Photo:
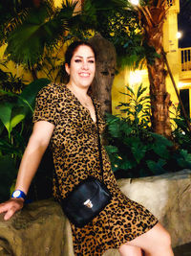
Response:
[{"label": "large green fan-shaped palm fronds in the upper left corner", "polygon": [[[76,4],[65,1],[60,9],[56,9],[53,0],[8,2],[10,5],[0,5],[0,38],[2,44],[7,43],[5,54],[15,63],[27,67],[35,80],[37,67],[42,66],[47,53],[62,48]],[[12,6],[11,2],[16,4]]]}]

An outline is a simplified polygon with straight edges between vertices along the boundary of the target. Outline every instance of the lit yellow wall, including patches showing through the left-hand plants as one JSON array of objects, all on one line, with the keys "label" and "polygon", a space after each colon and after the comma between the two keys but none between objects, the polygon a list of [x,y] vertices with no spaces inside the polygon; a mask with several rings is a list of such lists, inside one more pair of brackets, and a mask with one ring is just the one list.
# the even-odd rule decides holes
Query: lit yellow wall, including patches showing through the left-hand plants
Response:
[{"label": "lit yellow wall, including patches showing through the left-hand plants", "polygon": [[[74,1],[74,0],[73,0]],[[55,7],[60,7],[62,0],[54,0]],[[79,1],[80,3],[80,1]],[[167,15],[167,19],[165,20],[163,27],[163,45],[164,50],[167,53],[167,58],[174,76],[174,79],[179,85],[179,88],[188,88],[189,94],[191,97],[191,70],[188,72],[181,72],[181,60],[180,60],[180,49],[178,48],[178,39],[176,37],[178,32],[178,13],[180,12],[180,2],[179,0],[175,0],[172,2],[173,5],[170,7],[170,10]],[[76,11],[80,9],[80,4],[77,5]],[[3,58],[3,53],[5,51],[5,47],[0,48],[0,58]],[[62,56],[64,49],[60,51],[60,55]],[[15,65],[11,61],[8,63],[8,69],[3,68],[5,71],[11,70],[13,75],[23,76],[25,81],[32,81],[32,75],[29,72],[26,72],[21,66]],[[45,77],[44,74],[38,73],[38,77]],[[119,93],[125,92],[125,85],[129,85],[132,88],[137,88],[138,84],[143,83],[144,86],[149,88],[149,81],[147,76],[147,70],[141,70],[134,72],[133,70],[129,70],[128,68],[120,71],[116,76],[113,90],[112,90],[112,99],[113,99],[113,113],[118,114],[119,109],[117,107],[119,102],[127,102],[128,97]],[[166,78],[166,86],[167,91],[171,94],[171,100],[174,105],[178,105],[178,99],[175,94],[175,90],[172,85],[172,81],[169,77]],[[149,94],[149,90],[146,92]],[[191,98],[190,98],[191,99]],[[190,106],[191,110],[191,106]],[[190,111],[191,112],[191,111]]]}]

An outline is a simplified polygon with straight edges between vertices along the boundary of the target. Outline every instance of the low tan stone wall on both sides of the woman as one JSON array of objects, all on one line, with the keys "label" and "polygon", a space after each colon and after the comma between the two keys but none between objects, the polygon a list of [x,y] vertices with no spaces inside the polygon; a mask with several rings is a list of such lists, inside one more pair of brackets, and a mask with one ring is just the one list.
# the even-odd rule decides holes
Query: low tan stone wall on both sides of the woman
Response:
[{"label": "low tan stone wall on both sides of the woman", "polygon": [[[170,232],[173,246],[191,242],[191,171],[117,181]],[[74,256],[71,228],[52,199],[33,202],[10,221],[0,215],[0,256]],[[109,250],[104,256],[117,256]]]}]

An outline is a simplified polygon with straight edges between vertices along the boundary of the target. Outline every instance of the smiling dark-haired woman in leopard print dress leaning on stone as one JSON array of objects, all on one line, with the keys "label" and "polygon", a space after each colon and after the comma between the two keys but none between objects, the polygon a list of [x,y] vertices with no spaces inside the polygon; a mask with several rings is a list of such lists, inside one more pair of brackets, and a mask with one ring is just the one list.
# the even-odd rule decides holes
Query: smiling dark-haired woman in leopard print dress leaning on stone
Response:
[{"label": "smiling dark-haired woman in leopard print dress leaning on stone", "polygon": [[[53,181],[53,196],[61,191],[64,198],[81,179],[88,175],[100,178],[96,137],[96,111],[100,132],[104,121],[100,105],[89,95],[96,71],[96,54],[86,42],[74,42],[65,55],[65,68],[70,76],[67,85],[49,84],[38,94],[33,115],[33,131],[21,161],[16,192],[1,204],[9,220],[23,207],[32,177],[51,141],[59,189]],[[173,255],[170,237],[159,221],[143,206],[126,198],[117,188],[110,161],[102,147],[104,182],[112,194],[111,202],[96,218],[82,228],[72,223],[75,255],[102,255],[118,248],[121,255]]]}]

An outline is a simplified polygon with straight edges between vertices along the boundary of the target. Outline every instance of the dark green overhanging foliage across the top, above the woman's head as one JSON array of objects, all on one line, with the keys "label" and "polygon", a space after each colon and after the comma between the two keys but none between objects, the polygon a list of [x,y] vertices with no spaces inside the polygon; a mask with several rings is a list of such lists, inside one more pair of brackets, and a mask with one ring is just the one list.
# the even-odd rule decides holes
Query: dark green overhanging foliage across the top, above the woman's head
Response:
[{"label": "dark green overhanging foliage across the top, above the woman's head", "polygon": [[[50,53],[58,51],[64,42],[88,39],[95,33],[114,43],[118,67],[138,67],[143,59],[152,62],[157,57],[155,49],[143,40],[138,12],[128,1],[86,0],[81,12],[75,12],[76,2],[69,0],[63,1],[61,8],[54,8],[52,0],[40,1],[37,7],[32,1],[9,2],[12,5],[0,5],[1,41],[8,43],[9,59],[31,71],[42,69],[47,56],[50,58]],[[51,75],[53,68],[49,66],[46,74]],[[62,65],[57,65],[57,69],[61,71]]]}]

